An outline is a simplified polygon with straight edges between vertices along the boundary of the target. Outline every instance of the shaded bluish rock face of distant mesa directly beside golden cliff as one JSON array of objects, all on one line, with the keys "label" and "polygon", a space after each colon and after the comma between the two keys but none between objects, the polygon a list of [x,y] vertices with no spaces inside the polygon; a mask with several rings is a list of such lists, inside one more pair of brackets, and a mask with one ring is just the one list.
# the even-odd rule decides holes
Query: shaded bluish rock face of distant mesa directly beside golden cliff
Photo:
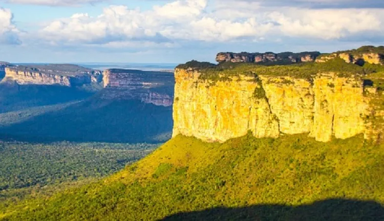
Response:
[{"label": "shaded bluish rock face of distant mesa directly beside golden cliff", "polygon": [[102,99],[141,100],[156,106],[172,106],[173,73],[109,69],[103,72]]}]

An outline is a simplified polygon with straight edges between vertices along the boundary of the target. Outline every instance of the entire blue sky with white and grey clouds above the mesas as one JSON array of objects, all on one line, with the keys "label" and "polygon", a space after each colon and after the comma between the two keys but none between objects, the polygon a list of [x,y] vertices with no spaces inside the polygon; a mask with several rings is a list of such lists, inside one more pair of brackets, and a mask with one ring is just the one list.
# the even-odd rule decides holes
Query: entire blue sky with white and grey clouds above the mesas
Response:
[{"label": "entire blue sky with white and grey clouds above the mesas", "polygon": [[384,45],[384,0],[0,0],[0,61],[215,62]]}]

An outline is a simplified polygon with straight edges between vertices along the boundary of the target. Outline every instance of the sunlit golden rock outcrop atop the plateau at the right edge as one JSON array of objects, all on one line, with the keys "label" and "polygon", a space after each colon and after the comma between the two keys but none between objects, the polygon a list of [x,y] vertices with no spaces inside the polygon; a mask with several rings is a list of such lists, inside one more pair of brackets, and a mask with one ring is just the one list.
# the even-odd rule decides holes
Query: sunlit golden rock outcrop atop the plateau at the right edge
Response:
[{"label": "sunlit golden rock outcrop atop the plateau at the right edge", "polygon": [[316,62],[326,62],[335,58],[341,58],[347,63],[360,66],[365,63],[384,65],[384,46],[362,46],[355,50],[323,54],[316,58]]}]

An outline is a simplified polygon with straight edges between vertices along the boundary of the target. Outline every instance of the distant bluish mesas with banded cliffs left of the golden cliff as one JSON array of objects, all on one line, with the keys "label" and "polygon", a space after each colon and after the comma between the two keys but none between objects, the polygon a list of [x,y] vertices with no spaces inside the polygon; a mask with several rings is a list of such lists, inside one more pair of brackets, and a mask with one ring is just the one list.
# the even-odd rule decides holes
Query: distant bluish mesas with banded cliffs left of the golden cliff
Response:
[{"label": "distant bluish mesas with banded cliffs left of the golden cliff", "polygon": [[172,72],[108,69],[74,64],[11,65],[0,63],[2,83],[56,85],[99,92],[104,100],[140,100],[157,106],[172,106],[175,78]]}]

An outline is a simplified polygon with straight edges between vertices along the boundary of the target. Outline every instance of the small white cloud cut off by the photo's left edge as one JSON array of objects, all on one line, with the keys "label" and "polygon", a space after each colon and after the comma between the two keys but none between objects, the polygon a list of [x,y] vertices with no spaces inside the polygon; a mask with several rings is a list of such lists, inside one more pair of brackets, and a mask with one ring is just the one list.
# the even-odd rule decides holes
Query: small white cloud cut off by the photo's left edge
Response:
[{"label": "small white cloud cut off by the photo's left edge", "polygon": [[0,8],[0,43],[19,44],[19,31],[14,26],[11,10]]}]

